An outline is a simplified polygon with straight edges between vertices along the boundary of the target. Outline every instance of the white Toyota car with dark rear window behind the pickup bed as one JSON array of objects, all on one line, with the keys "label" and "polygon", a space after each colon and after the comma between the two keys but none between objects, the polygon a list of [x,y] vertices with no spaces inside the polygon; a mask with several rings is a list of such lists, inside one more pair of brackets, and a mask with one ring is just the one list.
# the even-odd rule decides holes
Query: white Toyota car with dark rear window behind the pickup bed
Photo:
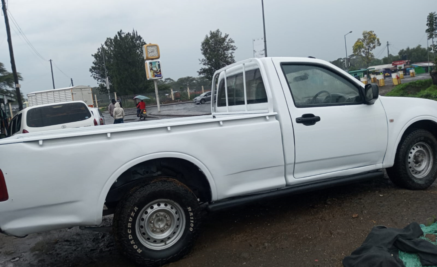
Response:
[{"label": "white Toyota car with dark rear window behind the pickup bed", "polygon": [[[97,118],[97,119],[96,119]],[[8,136],[21,133],[98,125],[83,101],[70,101],[28,107],[10,121]]]}]

